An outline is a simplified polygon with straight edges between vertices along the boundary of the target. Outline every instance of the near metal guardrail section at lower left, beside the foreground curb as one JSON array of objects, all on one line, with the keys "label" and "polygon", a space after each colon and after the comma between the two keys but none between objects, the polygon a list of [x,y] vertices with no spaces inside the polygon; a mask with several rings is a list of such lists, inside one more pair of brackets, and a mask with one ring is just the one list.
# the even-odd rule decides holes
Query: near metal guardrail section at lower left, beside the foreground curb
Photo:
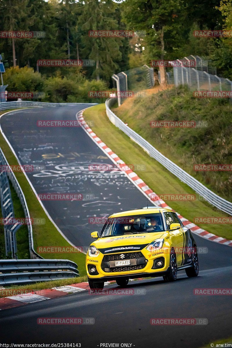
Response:
[{"label": "near metal guardrail section at lower left, beside the foreground curb", "polygon": [[0,286],[79,277],[70,260],[0,260]]}]

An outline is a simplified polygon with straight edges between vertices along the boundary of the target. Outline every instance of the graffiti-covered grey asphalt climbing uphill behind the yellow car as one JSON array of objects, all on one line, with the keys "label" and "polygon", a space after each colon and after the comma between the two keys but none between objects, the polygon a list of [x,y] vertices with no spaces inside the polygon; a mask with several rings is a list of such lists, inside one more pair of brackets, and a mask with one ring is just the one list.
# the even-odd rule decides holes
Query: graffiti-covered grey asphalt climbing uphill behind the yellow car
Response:
[{"label": "graffiti-covered grey asphalt climbing uphill behind the yellow car", "polygon": [[125,173],[89,171],[91,164],[113,163],[81,127],[37,126],[38,120],[76,121],[75,114],[87,106],[34,108],[1,117],[2,130],[21,164],[46,167],[45,171],[27,173],[37,194],[83,194],[80,201],[43,201],[43,205],[64,235],[84,248],[91,243],[90,233],[103,226],[89,223],[91,217],[108,217],[147,204]]}]

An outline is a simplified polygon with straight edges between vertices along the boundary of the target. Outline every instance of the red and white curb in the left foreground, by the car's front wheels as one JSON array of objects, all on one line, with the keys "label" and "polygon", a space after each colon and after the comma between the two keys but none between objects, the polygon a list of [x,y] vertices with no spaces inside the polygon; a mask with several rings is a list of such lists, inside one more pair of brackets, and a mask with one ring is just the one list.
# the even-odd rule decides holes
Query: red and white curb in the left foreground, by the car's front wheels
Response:
[{"label": "red and white curb in the left foreground, by the car's front wheels", "polygon": [[[130,281],[141,280],[141,279],[142,278],[130,279]],[[113,283],[116,283],[116,282],[115,281],[105,282],[105,285],[110,285]],[[78,284],[53,287],[51,289],[32,291],[27,294],[17,294],[17,295],[8,296],[8,297],[2,297],[0,298],[0,310],[15,308],[15,307],[23,306],[24,304],[28,304],[28,303],[54,299],[56,297],[61,297],[61,296],[65,296],[65,295],[69,295],[73,293],[80,293],[82,291],[89,291],[89,290],[90,290],[89,283],[83,282]],[[1,289],[1,291],[8,291],[8,289]],[[9,290],[9,291],[12,291],[14,293],[17,290]]]}]

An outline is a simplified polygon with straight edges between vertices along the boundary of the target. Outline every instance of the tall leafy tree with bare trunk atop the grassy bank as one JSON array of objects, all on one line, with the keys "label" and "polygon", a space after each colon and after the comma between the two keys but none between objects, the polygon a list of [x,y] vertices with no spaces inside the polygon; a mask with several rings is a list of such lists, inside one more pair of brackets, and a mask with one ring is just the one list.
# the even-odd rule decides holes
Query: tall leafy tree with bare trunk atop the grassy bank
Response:
[{"label": "tall leafy tree with bare trunk atop the grassy bank", "polygon": [[[128,29],[146,31],[144,53],[147,59],[170,59],[168,54],[177,44],[181,30],[179,13],[182,7],[182,0],[126,0],[123,3],[123,19]],[[161,84],[166,84],[165,67],[159,66],[159,70]]]}]

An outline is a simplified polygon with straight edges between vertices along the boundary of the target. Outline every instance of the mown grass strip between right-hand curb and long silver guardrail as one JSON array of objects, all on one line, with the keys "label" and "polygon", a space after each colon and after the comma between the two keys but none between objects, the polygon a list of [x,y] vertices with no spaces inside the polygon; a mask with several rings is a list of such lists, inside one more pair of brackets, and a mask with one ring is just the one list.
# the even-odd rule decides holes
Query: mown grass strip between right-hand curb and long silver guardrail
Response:
[{"label": "mown grass strip between right-hand curb and long silver guardrail", "polygon": [[[139,177],[149,185],[158,195],[164,192],[168,194],[194,194],[195,192],[182,183],[165,169],[156,160],[151,158],[139,145],[133,142],[120,129],[116,128],[105,113],[105,104],[99,104],[88,108],[84,112],[86,121],[93,121],[93,131],[109,146],[112,151],[127,164],[143,165],[145,170],[136,171]],[[225,217],[227,214],[217,210],[206,201],[199,200],[166,200],[166,203],[189,221],[194,222],[194,217]],[[200,223],[199,227],[217,236],[232,239],[232,229],[229,224]]]}]

